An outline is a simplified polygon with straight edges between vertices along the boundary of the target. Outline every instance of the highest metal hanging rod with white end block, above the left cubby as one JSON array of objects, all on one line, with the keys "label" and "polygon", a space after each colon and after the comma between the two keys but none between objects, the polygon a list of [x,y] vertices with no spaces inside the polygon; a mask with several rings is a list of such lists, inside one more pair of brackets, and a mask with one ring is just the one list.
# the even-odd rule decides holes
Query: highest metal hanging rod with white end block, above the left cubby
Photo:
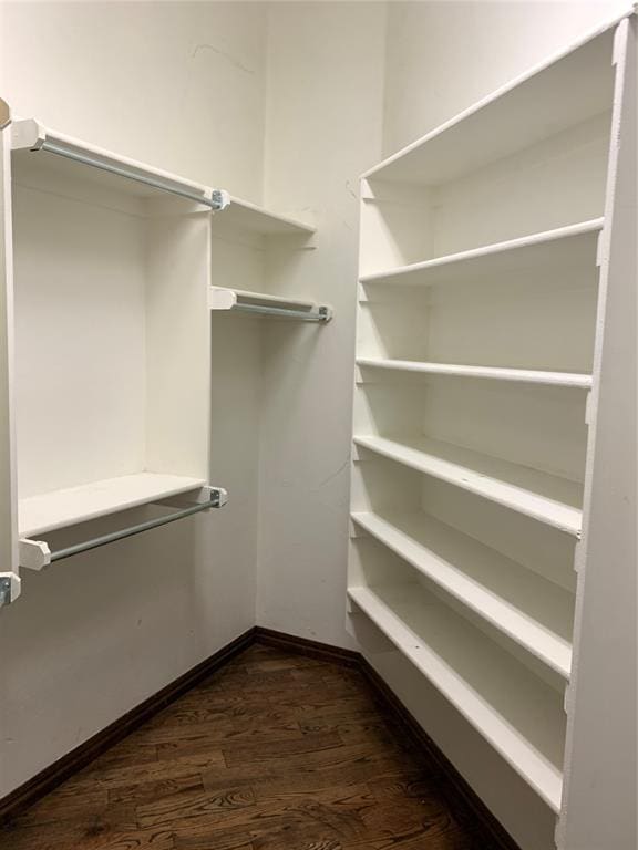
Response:
[{"label": "highest metal hanging rod with white end block, above the left cubby", "polygon": [[12,125],[12,148],[14,151],[40,151],[55,154],[117,177],[151,186],[171,195],[202,204],[213,210],[225,209],[230,196],[223,189],[210,189],[145,163],[130,159],[111,151],[96,147],[56,131],[50,131],[33,118],[14,121]]}]

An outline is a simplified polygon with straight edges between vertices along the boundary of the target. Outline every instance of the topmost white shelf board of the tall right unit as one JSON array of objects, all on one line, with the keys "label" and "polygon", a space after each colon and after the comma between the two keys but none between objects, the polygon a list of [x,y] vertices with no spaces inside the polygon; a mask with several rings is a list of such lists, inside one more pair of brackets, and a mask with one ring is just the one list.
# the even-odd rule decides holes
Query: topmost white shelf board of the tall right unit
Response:
[{"label": "topmost white shelf board of the tall right unit", "polygon": [[363,177],[444,184],[608,111],[617,22],[497,89]]}]

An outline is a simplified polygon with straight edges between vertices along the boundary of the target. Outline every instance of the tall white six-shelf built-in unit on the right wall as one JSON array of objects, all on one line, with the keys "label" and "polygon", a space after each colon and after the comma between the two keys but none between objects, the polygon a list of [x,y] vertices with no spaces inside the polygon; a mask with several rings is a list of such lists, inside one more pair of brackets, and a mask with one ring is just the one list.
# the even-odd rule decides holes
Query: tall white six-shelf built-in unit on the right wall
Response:
[{"label": "tall white six-shelf built-in unit on the right wall", "polygon": [[[636,185],[635,38],[632,15],[603,28],[361,183],[350,622],[364,650],[361,622],[409,662],[413,685],[390,686],[415,694],[426,678],[562,812],[566,850],[585,847],[568,842],[566,811],[584,823],[594,806],[572,766],[595,771],[603,758],[583,755],[595,732],[593,713],[578,714],[578,677],[594,699],[595,676],[611,678],[609,664],[594,672],[598,650],[583,654],[587,599],[594,610],[583,576],[600,573],[587,581],[601,592],[605,556],[589,561],[587,538],[595,528],[611,546],[624,514],[615,485],[615,507],[599,495],[593,508],[596,476],[620,450],[600,417],[611,427],[613,396],[636,388],[610,325],[634,339],[636,311],[609,319],[636,287],[635,188],[615,200]],[[635,505],[635,477],[619,469],[618,480]],[[564,791],[564,771],[580,796]],[[491,782],[477,790],[497,808]],[[495,813],[507,825],[507,804]]]}]

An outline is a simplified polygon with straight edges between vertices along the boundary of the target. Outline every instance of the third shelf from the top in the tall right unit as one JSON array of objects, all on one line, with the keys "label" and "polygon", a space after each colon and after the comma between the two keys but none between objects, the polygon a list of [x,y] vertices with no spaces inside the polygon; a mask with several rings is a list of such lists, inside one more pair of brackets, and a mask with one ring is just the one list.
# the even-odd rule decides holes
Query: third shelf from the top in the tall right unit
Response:
[{"label": "third shelf from the top in the tall right unit", "polygon": [[542,386],[564,386],[575,390],[591,388],[591,375],[573,372],[501,369],[496,366],[462,366],[455,363],[422,363],[415,360],[389,360],[387,357],[359,357],[357,364],[362,367],[383,369],[395,372],[478,377],[521,384],[539,384]]}]

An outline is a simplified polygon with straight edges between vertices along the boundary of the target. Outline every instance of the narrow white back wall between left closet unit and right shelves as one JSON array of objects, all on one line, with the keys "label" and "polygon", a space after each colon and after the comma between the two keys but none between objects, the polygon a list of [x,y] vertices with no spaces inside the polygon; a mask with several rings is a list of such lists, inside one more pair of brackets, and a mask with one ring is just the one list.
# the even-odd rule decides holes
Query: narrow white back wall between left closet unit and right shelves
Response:
[{"label": "narrow white back wall between left closet unit and right shelves", "polygon": [[[260,625],[346,645],[358,177],[381,153],[383,3],[276,3],[266,200],[307,212],[317,250],[277,286],[332,304],[325,328],[271,325],[261,429]],[[276,261],[276,258],[275,258]]]}]

